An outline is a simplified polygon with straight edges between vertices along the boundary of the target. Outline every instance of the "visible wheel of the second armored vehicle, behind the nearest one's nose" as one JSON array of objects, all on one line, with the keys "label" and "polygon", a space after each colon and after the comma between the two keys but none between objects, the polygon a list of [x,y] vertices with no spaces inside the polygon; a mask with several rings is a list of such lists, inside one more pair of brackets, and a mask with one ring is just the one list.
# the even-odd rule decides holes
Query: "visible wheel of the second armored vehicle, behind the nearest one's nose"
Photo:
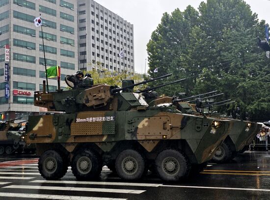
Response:
[{"label": "visible wheel of the second armored vehicle, behind the nearest one's nose", "polygon": [[226,143],[222,143],[216,150],[212,161],[215,163],[224,163],[231,159],[232,151]]}]

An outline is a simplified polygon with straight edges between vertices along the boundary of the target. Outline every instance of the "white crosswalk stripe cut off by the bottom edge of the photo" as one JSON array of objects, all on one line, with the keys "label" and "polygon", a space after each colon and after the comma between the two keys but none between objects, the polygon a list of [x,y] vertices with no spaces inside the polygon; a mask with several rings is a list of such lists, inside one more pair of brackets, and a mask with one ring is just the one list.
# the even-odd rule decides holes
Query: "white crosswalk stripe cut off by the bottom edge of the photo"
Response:
[{"label": "white crosswalk stripe cut off by the bottom edge of the photo", "polygon": [[127,200],[127,199],[102,198],[102,197],[41,195],[41,194],[4,193],[4,192],[0,192],[0,197],[15,197],[16,199],[17,198],[33,198],[33,199],[50,199],[50,200]]}]

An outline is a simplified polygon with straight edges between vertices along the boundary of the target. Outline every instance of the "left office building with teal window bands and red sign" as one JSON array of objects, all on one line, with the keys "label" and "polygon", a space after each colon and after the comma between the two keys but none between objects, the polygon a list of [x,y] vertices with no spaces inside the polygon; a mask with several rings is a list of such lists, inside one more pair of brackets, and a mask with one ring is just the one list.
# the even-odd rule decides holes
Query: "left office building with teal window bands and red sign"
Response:
[{"label": "left office building with teal window bands and red sign", "polygon": [[[47,68],[61,66],[64,76],[78,70],[78,31],[76,0],[1,0],[0,1],[0,112],[4,120],[35,114],[34,91],[42,90],[46,80],[41,27],[33,20],[41,14]],[[4,45],[10,46],[9,62]],[[4,79],[4,65],[9,64],[9,80]],[[57,80],[49,79],[50,91]],[[6,85],[9,85],[9,98]]]}]

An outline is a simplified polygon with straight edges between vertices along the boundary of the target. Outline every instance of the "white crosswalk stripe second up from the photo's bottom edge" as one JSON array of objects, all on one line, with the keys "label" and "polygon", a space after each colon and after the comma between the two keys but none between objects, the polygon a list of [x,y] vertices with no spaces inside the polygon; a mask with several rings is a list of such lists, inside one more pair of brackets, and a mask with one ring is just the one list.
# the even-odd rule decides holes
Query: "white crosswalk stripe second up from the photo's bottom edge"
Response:
[{"label": "white crosswalk stripe second up from the photo's bottom edge", "polygon": [[127,189],[106,189],[106,188],[81,188],[81,187],[52,187],[52,186],[34,186],[34,185],[9,185],[2,188],[14,189],[37,189],[37,190],[64,190],[64,191],[83,191],[83,192],[110,192],[110,193],[129,193],[141,194],[146,190],[127,190]]}]

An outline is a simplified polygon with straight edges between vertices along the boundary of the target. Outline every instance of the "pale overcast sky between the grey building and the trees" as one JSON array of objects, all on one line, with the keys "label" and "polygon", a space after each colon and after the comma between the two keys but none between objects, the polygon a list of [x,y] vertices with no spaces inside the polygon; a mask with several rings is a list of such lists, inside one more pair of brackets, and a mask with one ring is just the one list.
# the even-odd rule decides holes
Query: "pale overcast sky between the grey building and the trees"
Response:
[{"label": "pale overcast sky between the grey building and the trees", "polygon": [[[161,22],[164,12],[171,13],[176,8],[184,11],[188,5],[198,8],[202,0],[95,0],[110,11],[118,14],[134,25],[135,72],[144,73],[147,58],[146,44],[151,33]],[[204,0],[206,1],[206,0]],[[245,0],[252,12],[270,24],[270,0]],[[146,71],[147,71],[146,62]]]}]

